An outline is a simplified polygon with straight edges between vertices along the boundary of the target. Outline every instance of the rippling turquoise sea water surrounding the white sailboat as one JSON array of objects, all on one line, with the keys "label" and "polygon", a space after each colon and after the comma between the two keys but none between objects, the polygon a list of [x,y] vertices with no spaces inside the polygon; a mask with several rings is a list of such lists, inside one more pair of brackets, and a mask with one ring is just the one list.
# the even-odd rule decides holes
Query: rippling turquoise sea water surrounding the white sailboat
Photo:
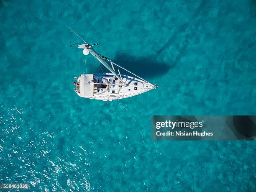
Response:
[{"label": "rippling turquoise sea water surrounding the white sailboat", "polygon": [[[0,183],[33,191],[256,191],[256,144],[151,141],[151,115],[256,114],[256,1],[0,2]],[[96,50],[163,88],[73,91]],[[103,69],[103,68],[102,68]],[[106,71],[103,69],[103,71]]]}]

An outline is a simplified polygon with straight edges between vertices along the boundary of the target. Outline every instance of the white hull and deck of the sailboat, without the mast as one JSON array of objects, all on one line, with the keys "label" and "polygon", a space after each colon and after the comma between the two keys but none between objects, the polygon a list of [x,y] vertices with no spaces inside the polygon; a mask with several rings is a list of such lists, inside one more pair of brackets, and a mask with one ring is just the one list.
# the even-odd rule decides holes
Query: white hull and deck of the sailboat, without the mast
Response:
[{"label": "white hull and deck of the sailboat, without the mast", "polygon": [[125,86],[118,78],[113,80],[114,76],[112,73],[82,74],[74,90],[80,97],[112,101],[139,95],[157,87],[142,79],[121,75]]}]

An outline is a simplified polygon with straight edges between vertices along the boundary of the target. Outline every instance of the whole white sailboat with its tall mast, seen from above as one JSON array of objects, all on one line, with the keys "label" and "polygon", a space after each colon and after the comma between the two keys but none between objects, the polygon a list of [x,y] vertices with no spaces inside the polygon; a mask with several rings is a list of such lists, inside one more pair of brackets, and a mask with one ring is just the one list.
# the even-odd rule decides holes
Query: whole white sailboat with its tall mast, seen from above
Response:
[{"label": "whole white sailboat with its tall mast, seen from above", "polygon": [[[70,30],[75,33],[71,28]],[[77,35],[77,33],[75,34]],[[82,39],[79,35],[77,36]],[[82,41],[84,40],[82,39]],[[110,72],[82,74],[78,78],[74,77],[77,80],[77,82],[73,82],[73,84],[76,86],[74,91],[77,93],[77,95],[79,95],[79,97],[102,101],[113,101],[139,95],[158,87],[157,85],[146,81],[133,72],[128,71],[127,69],[114,63],[107,57],[98,54],[92,47],[95,45],[98,44],[90,45],[84,41],[84,44],[78,45],[78,48],[83,49],[83,54],[85,56],[92,54],[92,56],[100,61],[100,63]],[[114,65],[125,70],[133,76],[120,74],[119,69],[116,71]]]}]

